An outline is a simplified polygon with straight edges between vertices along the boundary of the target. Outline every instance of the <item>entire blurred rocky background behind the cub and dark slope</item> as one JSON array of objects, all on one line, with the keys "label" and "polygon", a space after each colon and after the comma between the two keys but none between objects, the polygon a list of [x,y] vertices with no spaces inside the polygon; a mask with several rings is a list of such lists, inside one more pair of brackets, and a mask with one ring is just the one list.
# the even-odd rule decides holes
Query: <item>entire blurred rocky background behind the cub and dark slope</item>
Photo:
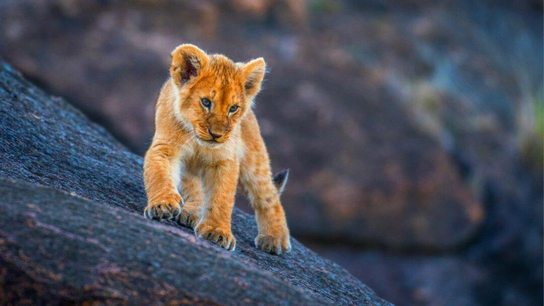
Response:
[{"label": "entire blurred rocky background behind the cub and dark slope", "polygon": [[0,55],[140,154],[175,46],[264,57],[296,238],[399,305],[540,305],[542,21],[541,1],[2,0]]}]

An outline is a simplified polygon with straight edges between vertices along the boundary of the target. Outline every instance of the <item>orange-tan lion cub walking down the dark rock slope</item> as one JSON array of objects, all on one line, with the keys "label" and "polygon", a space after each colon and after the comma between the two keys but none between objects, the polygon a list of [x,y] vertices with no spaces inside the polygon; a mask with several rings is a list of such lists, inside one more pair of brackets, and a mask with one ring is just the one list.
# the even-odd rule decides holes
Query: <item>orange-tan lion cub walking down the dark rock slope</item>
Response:
[{"label": "orange-tan lion cub walking down the dark rock slope", "polygon": [[144,215],[175,217],[200,238],[232,251],[231,215],[239,183],[255,209],[255,246],[288,252],[289,229],[280,203],[288,172],[271,177],[251,109],[264,60],[233,63],[189,44],[171,55],[170,78],[160,90],[155,135],[144,159],[149,201]]}]

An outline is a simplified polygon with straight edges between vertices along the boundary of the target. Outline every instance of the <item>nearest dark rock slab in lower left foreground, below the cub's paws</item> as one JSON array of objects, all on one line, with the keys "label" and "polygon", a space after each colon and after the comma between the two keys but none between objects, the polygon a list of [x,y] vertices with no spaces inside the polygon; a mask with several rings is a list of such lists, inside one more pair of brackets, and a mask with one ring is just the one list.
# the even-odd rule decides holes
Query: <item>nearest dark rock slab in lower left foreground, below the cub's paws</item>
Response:
[{"label": "nearest dark rock slab in lower left foreground, below the cub's paws", "polygon": [[0,179],[2,304],[326,304],[169,224]]}]

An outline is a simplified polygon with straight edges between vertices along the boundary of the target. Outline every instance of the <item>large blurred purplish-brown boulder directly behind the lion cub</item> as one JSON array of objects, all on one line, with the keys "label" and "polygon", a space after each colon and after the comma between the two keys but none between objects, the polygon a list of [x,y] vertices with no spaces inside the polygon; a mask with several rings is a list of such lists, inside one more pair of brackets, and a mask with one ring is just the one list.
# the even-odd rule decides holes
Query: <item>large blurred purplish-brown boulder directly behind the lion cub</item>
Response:
[{"label": "large blurred purplish-brown boulder directly behind the lion cub", "polygon": [[[215,33],[204,35],[210,30],[202,20],[209,18],[196,2],[103,3],[7,5],[0,52],[140,154],[178,43],[235,60],[263,56],[271,73],[256,112],[273,166],[292,169],[283,203],[295,236],[444,251],[477,234],[485,213],[458,167],[389,93],[379,70],[361,65],[364,54],[339,47],[337,40],[350,36],[338,26],[283,35],[267,18],[240,13],[243,4],[230,10],[208,3],[220,18]],[[343,22],[373,32],[372,24]]]}]

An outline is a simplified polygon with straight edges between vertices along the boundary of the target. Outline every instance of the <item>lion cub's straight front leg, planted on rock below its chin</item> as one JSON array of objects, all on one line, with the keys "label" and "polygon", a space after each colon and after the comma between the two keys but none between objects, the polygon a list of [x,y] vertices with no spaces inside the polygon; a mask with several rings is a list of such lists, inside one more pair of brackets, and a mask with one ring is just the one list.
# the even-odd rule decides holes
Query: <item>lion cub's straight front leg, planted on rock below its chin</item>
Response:
[{"label": "lion cub's straight front leg, planted on rock below its chin", "polygon": [[195,234],[232,251],[236,239],[231,233],[231,216],[238,183],[239,163],[220,161],[203,171],[204,207]]}]

